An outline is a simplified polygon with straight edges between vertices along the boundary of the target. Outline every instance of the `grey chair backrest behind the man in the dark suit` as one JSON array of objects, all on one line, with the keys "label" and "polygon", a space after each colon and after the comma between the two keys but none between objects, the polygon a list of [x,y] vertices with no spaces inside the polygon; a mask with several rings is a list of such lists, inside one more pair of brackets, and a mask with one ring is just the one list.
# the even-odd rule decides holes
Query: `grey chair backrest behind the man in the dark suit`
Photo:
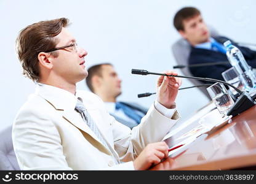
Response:
[{"label": "grey chair backrest behind the man in the dark suit", "polygon": [[[212,28],[212,26],[208,26],[210,30],[210,36],[212,37],[217,37],[219,34],[218,32]],[[187,40],[181,38],[178,39],[173,45],[172,45],[172,53],[174,54],[174,58],[177,62],[178,65],[188,65],[188,57],[190,56],[190,51],[191,51],[191,45],[188,43]],[[187,76],[192,76],[190,69],[188,67],[184,67],[183,69],[180,69],[184,75]],[[193,85],[202,85],[202,82],[196,79],[188,79],[190,80]],[[204,93],[207,98],[211,99],[206,88],[201,87],[199,90]]]}]

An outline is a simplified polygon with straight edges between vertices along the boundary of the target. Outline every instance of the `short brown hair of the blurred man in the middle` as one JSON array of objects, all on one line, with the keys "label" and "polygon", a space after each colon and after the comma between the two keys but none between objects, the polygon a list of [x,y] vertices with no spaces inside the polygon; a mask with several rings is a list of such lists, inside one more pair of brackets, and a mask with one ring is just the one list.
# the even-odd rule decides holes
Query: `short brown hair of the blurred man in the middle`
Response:
[{"label": "short brown hair of the blurred man in the middle", "polygon": [[92,86],[92,77],[95,75],[102,77],[102,66],[103,65],[110,65],[113,66],[110,63],[102,63],[102,64],[96,64],[94,66],[89,67],[88,69],[88,76],[86,77],[86,84],[90,91],[94,93],[94,87]]}]

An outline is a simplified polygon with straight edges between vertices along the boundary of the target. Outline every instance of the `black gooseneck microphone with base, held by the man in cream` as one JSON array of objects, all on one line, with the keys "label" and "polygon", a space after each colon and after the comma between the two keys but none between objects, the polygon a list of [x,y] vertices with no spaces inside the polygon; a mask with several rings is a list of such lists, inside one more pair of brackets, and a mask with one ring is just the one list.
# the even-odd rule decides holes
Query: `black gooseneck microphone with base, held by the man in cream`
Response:
[{"label": "black gooseneck microphone with base, held by the man in cream", "polygon": [[239,97],[236,102],[234,102],[233,107],[231,107],[230,110],[228,110],[227,115],[232,115],[235,117],[239,113],[244,112],[245,110],[249,109],[250,107],[253,107],[255,105],[254,99],[246,93],[246,91],[241,91],[235,86],[231,85],[230,83],[224,82],[222,80],[217,80],[217,79],[210,79],[210,78],[201,78],[201,77],[187,77],[187,76],[182,76],[182,75],[167,75],[167,74],[160,74],[160,73],[154,73],[154,72],[148,72],[146,70],[140,70],[140,69],[132,69],[132,74],[138,74],[138,75],[148,75],[148,74],[153,74],[153,75],[163,75],[163,76],[169,76],[169,77],[180,77],[180,78],[186,78],[186,79],[197,79],[197,80],[204,80],[204,81],[209,81],[209,82],[220,82],[225,85],[231,86],[234,90],[238,91]]}]

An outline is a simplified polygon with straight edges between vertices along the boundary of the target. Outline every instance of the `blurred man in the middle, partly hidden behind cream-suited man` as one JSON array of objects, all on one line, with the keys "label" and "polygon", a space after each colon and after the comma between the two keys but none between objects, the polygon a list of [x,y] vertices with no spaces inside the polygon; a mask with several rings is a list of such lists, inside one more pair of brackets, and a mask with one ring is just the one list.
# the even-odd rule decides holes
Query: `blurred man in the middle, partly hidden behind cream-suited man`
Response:
[{"label": "blurred man in the middle, partly hidden behind cream-suited man", "polygon": [[120,123],[134,128],[148,111],[135,103],[117,102],[122,93],[121,79],[110,63],[102,63],[88,69],[87,86],[105,102],[106,109]]}]

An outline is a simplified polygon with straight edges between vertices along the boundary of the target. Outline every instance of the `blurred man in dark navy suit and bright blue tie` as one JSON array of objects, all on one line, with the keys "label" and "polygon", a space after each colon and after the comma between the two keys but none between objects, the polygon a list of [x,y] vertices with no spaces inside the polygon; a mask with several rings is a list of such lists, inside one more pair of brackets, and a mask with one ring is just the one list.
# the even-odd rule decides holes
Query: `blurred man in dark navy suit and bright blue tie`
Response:
[{"label": "blurred man in dark navy suit and bright blue tie", "polygon": [[[223,36],[210,37],[209,29],[206,23],[204,23],[201,12],[198,9],[185,7],[179,10],[174,17],[174,26],[181,36],[188,40],[191,45],[188,64],[228,61],[223,43],[230,39]],[[231,40],[231,42],[233,41]],[[239,47],[238,45],[236,47],[241,50],[247,63],[255,68],[256,52],[246,47]],[[196,77],[223,80],[222,72],[230,67],[231,64],[229,63],[214,66],[190,67],[190,72]]]}]

